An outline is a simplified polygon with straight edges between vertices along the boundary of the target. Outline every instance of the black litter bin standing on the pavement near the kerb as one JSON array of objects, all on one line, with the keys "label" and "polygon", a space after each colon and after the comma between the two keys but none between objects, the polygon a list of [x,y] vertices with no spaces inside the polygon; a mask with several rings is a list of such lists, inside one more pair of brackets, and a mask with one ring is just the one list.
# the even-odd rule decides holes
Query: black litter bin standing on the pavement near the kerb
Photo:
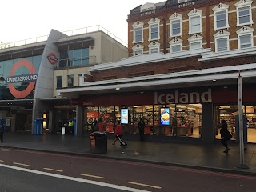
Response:
[{"label": "black litter bin standing on the pavement near the kerb", "polygon": [[107,153],[107,135],[104,132],[95,131],[90,134],[90,153]]}]

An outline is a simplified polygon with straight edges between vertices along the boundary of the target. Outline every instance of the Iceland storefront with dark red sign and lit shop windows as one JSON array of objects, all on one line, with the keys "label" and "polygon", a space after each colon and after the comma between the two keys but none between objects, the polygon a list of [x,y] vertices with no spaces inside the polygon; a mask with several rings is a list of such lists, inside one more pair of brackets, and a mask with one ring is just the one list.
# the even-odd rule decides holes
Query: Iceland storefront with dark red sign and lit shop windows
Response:
[{"label": "Iceland storefront with dark red sign and lit shop windows", "polygon": [[[246,86],[243,93],[244,114],[251,115],[252,121],[256,117],[253,105],[256,91]],[[120,120],[126,137],[138,138],[138,121],[142,118],[146,140],[214,143],[220,138],[221,119],[226,119],[235,140],[237,95],[236,86],[211,86],[82,95],[73,102],[81,107],[82,121],[78,127],[82,127],[83,134],[90,133],[94,118],[100,118],[106,132],[114,133],[114,126]],[[248,138],[252,138],[248,142],[256,142],[254,132],[248,132]]]}]

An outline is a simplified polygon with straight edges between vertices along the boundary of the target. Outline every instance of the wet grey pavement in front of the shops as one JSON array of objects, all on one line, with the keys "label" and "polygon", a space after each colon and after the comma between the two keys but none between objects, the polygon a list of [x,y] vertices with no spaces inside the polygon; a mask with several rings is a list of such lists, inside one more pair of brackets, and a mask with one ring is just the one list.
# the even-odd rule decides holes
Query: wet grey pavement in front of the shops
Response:
[{"label": "wet grey pavement in front of the shops", "polygon": [[0,148],[40,150],[50,153],[83,155],[95,158],[113,158],[118,160],[146,162],[166,166],[182,166],[202,170],[212,170],[233,174],[256,176],[256,144],[247,144],[244,153],[244,165],[249,169],[237,168],[240,164],[239,144],[230,142],[229,154],[223,153],[224,147],[219,141],[212,146],[202,143],[162,143],[126,141],[123,148],[117,142],[112,146],[113,136],[108,137],[107,153],[90,153],[89,136],[74,137],[60,134],[5,134]]}]

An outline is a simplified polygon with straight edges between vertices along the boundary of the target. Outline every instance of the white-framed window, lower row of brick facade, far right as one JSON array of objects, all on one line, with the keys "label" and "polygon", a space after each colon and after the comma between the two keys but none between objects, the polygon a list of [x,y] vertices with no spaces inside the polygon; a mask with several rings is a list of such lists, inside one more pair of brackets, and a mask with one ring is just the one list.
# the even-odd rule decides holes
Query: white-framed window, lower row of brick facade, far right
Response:
[{"label": "white-framed window, lower row of brick facade, far right", "polygon": [[238,47],[240,49],[254,46],[254,29],[248,26],[243,26],[237,31],[238,34]]}]

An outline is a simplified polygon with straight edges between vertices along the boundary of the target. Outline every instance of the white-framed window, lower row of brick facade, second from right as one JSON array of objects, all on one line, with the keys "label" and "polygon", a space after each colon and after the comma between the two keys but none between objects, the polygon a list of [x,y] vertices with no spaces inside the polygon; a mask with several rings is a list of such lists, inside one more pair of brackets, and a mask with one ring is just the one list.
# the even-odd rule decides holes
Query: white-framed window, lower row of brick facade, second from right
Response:
[{"label": "white-framed window, lower row of brick facade, second from right", "polygon": [[229,36],[230,32],[224,30],[220,30],[218,33],[214,34],[216,52],[230,50]]}]

